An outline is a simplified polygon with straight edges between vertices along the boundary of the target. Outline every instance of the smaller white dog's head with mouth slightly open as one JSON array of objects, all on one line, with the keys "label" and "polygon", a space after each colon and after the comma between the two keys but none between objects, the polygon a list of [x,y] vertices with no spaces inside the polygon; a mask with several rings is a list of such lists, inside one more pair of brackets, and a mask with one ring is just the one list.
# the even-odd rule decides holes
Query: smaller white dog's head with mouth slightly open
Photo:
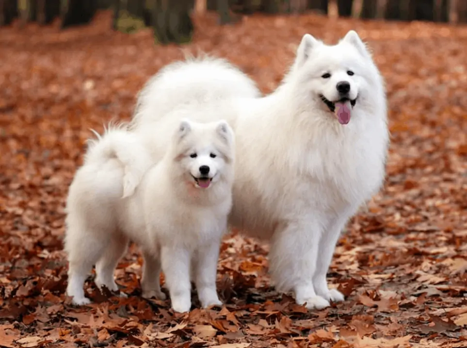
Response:
[{"label": "smaller white dog's head with mouth slightly open", "polygon": [[173,138],[176,170],[196,188],[233,181],[235,139],[226,121],[198,123],[181,120]]}]

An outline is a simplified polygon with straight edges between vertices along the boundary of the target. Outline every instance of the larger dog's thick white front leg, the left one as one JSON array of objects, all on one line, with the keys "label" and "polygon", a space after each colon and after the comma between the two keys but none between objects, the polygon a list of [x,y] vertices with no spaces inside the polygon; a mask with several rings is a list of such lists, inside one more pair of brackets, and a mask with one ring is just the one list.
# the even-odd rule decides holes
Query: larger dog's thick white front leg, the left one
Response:
[{"label": "larger dog's thick white front leg, the left one", "polygon": [[270,271],[278,291],[295,293],[298,304],[322,309],[329,301],[317,295],[313,286],[322,226],[313,219],[290,220],[274,232]]}]

